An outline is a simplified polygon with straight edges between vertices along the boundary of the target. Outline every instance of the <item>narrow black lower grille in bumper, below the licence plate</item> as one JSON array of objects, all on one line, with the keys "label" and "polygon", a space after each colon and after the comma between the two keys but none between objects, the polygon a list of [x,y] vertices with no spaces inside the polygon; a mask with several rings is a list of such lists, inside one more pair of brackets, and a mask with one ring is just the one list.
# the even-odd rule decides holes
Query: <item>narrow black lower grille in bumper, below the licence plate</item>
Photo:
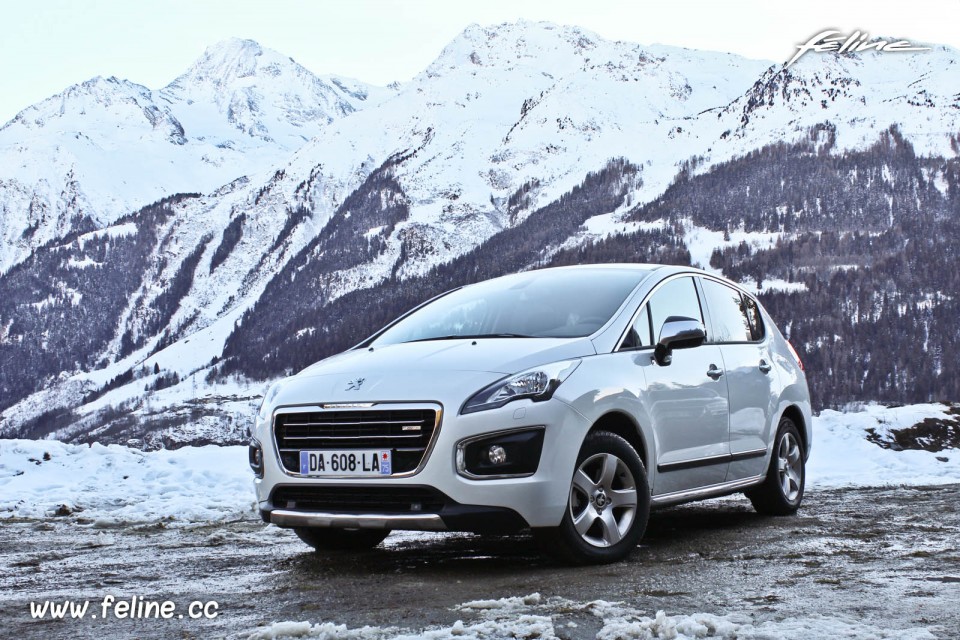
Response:
[{"label": "narrow black lower grille in bumper, below the licence plate", "polygon": [[323,513],[439,513],[449,498],[426,487],[277,487],[271,502]]}]

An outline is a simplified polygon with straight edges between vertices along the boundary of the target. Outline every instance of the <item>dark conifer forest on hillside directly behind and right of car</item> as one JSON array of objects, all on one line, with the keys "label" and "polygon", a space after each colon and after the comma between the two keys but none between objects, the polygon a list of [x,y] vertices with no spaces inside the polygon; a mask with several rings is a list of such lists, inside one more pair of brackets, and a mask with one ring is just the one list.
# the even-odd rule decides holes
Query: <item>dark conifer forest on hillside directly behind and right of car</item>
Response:
[{"label": "dark conifer forest on hillside directly behind and right of car", "polygon": [[[711,266],[748,285],[805,285],[761,299],[801,352],[817,407],[960,398],[950,367],[960,358],[960,161],[916,156],[895,127],[864,151],[837,153],[832,145],[832,128],[823,125],[808,141],[769,145],[702,173],[693,161],[662,196],[629,213],[661,221],[654,230],[556,250],[586,219],[619,207],[627,185],[641,179],[638,167],[619,160],[424,276],[391,278],[328,304],[319,269],[278,278],[239,323],[212,375],[296,372],[433,295],[521,269],[689,264],[684,225],[692,223],[781,234],[772,248],[717,250]],[[309,264],[310,250],[302,262]],[[276,308],[283,319],[269,312]]]}]

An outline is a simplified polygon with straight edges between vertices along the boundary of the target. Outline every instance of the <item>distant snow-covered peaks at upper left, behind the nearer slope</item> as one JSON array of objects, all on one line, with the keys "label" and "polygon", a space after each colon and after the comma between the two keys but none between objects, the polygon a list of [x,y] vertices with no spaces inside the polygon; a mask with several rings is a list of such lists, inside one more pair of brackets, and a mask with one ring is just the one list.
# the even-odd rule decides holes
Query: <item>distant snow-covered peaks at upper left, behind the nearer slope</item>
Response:
[{"label": "distant snow-covered peaks at upper left, behind the nearer slope", "polygon": [[68,87],[0,128],[0,273],[71,230],[269,169],[390,93],[237,39],[158,91],[113,77]]}]

